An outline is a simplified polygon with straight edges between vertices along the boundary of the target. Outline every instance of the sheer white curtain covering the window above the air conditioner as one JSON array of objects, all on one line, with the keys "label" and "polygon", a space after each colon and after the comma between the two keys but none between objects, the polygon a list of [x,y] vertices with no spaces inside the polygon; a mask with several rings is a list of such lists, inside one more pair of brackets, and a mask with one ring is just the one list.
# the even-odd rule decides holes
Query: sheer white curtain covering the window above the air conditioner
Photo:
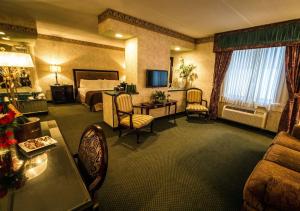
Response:
[{"label": "sheer white curtain covering the window above the air conditioner", "polygon": [[280,103],[286,87],[285,47],[234,51],[223,83],[223,100],[254,107]]}]

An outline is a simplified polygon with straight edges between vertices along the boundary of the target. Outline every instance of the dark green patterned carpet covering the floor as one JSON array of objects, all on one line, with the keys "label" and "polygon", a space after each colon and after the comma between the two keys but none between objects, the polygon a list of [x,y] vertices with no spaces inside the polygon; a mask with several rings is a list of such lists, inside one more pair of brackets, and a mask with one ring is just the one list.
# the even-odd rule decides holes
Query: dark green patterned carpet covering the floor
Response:
[{"label": "dark green patterned carpet covering the floor", "polygon": [[118,138],[101,112],[82,105],[49,107],[72,152],[84,128],[99,123],[109,167],[97,193],[100,210],[240,210],[244,183],[273,138],[250,127],[178,116],[155,121],[155,134]]}]

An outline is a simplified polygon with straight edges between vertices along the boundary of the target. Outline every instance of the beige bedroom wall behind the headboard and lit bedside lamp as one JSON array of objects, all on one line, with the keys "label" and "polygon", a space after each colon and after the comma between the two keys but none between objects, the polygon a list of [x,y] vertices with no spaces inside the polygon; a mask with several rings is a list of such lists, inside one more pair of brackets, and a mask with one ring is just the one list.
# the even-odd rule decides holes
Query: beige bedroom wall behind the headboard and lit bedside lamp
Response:
[{"label": "beige bedroom wall behind the headboard and lit bedside lamp", "polygon": [[50,99],[50,85],[55,83],[50,64],[62,67],[60,84],[73,84],[73,69],[118,70],[124,74],[125,52],[61,41],[37,39],[34,47],[36,58],[37,86]]}]

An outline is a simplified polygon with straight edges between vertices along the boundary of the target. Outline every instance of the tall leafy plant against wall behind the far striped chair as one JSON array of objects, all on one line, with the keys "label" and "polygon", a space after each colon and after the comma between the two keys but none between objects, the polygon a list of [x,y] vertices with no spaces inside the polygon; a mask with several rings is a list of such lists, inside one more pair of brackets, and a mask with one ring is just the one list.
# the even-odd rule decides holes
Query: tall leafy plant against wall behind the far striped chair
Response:
[{"label": "tall leafy plant against wall behind the far striped chair", "polygon": [[196,73],[192,73],[195,68],[195,65],[186,65],[184,59],[182,57],[180,58],[180,66],[176,69],[176,71],[179,72],[179,77],[181,79],[180,88],[187,88],[188,81],[193,82],[198,78]]}]

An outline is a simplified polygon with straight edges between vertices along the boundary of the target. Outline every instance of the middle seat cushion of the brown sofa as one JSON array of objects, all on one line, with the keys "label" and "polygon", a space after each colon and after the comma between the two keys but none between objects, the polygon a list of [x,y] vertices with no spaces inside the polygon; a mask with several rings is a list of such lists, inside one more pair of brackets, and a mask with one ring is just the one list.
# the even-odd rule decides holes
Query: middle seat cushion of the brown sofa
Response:
[{"label": "middle seat cushion of the brown sofa", "polygon": [[[274,144],[264,156],[265,160],[272,161],[286,168],[300,172],[300,152]],[[300,181],[299,181],[300,182]]]}]

